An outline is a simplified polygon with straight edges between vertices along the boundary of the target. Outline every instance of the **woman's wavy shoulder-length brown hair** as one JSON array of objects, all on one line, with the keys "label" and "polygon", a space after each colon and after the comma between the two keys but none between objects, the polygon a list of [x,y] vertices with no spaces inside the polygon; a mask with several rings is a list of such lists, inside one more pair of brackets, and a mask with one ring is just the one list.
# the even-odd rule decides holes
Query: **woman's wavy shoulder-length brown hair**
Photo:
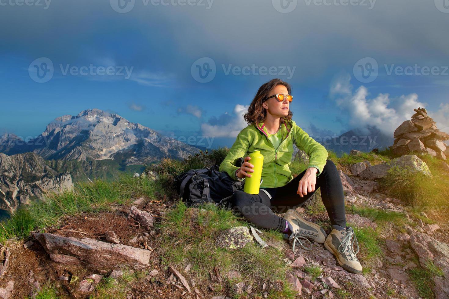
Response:
[{"label": "woman's wavy shoulder-length brown hair", "polygon": [[[264,121],[267,116],[267,111],[264,107],[262,107],[262,100],[264,100],[267,96],[269,96],[270,91],[276,87],[277,85],[283,85],[287,88],[288,94],[291,94],[291,86],[285,81],[281,79],[272,79],[269,82],[262,84],[259,87],[259,90],[254,96],[250,107],[248,108],[248,112],[243,114],[243,118],[247,121],[248,125],[255,122],[260,123]],[[289,123],[293,113],[291,113],[290,109],[288,109],[288,115],[281,118],[281,123]]]}]

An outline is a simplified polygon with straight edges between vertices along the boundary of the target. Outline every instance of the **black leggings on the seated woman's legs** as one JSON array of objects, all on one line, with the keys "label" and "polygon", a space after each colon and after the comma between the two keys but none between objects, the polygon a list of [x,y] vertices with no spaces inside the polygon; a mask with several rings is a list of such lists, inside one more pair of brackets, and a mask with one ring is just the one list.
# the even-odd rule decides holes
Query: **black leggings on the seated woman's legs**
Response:
[{"label": "black leggings on the seated woman's legs", "polygon": [[233,211],[240,212],[248,222],[261,228],[284,230],[284,218],[277,216],[274,212],[285,213],[290,208],[296,208],[309,199],[318,187],[321,187],[321,199],[326,207],[330,222],[332,225],[346,227],[343,186],[334,162],[326,160],[323,171],[317,177],[315,191],[308,192],[304,197],[300,197],[296,192],[298,191],[299,180],[304,176],[306,170],[285,186],[264,188],[272,196],[271,200],[262,190],[259,191],[259,194],[248,194],[242,190],[234,192],[231,198]]}]

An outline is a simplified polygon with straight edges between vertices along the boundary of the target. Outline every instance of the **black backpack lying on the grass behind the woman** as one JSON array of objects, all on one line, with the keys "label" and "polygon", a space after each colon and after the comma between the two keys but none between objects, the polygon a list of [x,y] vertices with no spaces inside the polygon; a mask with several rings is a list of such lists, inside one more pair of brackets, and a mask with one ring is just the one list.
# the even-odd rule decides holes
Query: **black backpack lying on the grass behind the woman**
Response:
[{"label": "black backpack lying on the grass behind the woman", "polygon": [[[241,165],[243,158],[238,158]],[[176,191],[189,207],[214,203],[216,206],[231,208],[230,198],[235,191],[242,190],[245,181],[235,181],[225,171],[218,171],[219,166],[190,169],[175,179]]]}]

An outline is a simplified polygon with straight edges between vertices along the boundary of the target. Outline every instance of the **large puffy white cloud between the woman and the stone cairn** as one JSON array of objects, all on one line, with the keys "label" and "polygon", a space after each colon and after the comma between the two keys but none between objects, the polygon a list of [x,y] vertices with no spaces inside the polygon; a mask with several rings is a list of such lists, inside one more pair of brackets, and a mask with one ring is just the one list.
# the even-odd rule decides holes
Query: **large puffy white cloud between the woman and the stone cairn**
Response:
[{"label": "large puffy white cloud between the woman and the stone cairn", "polygon": [[[370,125],[376,126],[385,134],[393,134],[402,122],[410,119],[414,108],[427,105],[418,101],[416,93],[396,98],[391,98],[387,93],[380,93],[370,98],[369,91],[364,86],[353,91],[350,80],[349,74],[336,77],[331,83],[330,95],[348,115],[349,124],[357,128]],[[432,114],[429,112],[429,115]]]}]

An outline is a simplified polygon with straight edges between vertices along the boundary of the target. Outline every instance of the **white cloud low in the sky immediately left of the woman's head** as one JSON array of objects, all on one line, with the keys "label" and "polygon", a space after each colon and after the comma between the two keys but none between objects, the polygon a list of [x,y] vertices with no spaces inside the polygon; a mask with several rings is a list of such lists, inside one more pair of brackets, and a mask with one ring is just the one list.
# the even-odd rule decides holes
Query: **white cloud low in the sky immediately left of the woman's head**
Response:
[{"label": "white cloud low in the sky immediately left of the woman's head", "polygon": [[248,123],[243,119],[243,114],[248,112],[249,107],[249,105],[235,105],[233,111],[234,117],[228,123],[214,126],[208,123],[202,123],[202,134],[214,137],[237,137],[238,133],[248,126]]}]

